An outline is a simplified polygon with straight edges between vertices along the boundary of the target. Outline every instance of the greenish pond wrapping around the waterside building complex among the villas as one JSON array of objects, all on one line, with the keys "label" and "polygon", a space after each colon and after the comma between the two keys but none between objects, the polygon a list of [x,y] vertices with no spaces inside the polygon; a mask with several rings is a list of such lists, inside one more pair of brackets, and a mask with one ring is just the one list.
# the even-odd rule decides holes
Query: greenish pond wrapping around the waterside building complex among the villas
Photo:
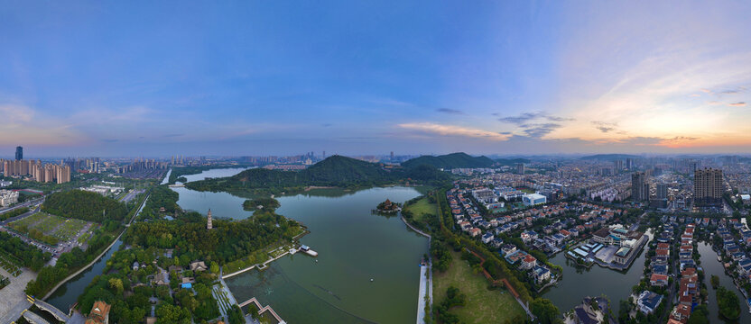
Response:
[{"label": "greenish pond wrapping around the waterside building complex among the villas", "polygon": [[[646,234],[652,239],[652,229]],[[551,263],[563,267],[563,280],[542,297],[550,299],[561,312],[570,311],[581,303],[587,296],[606,295],[610,299],[614,316],[618,316],[619,301],[627,300],[631,294],[631,287],[639,283],[644,275],[644,250],[636,257],[630,268],[624,272],[592,266],[590,269],[578,268],[575,263],[567,259],[564,252],[551,259]]]}]

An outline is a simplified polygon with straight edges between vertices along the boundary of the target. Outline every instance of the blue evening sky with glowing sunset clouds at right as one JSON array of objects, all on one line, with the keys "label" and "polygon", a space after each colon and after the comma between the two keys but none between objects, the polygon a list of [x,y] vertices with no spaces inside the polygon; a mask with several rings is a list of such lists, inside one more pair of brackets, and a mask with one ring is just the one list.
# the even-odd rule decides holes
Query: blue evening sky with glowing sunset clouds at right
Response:
[{"label": "blue evening sky with glowing sunset clouds at right", "polygon": [[751,153],[751,2],[0,7],[0,156]]}]

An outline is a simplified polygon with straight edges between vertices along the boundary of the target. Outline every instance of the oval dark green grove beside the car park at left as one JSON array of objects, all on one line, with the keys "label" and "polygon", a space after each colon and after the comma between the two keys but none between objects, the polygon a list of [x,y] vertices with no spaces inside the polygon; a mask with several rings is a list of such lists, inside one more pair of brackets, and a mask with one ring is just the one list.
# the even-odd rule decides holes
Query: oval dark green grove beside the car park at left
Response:
[{"label": "oval dark green grove beside the car park at left", "polygon": [[96,221],[125,220],[128,209],[122,202],[98,193],[82,190],[52,193],[42,204],[42,211],[67,218]]}]

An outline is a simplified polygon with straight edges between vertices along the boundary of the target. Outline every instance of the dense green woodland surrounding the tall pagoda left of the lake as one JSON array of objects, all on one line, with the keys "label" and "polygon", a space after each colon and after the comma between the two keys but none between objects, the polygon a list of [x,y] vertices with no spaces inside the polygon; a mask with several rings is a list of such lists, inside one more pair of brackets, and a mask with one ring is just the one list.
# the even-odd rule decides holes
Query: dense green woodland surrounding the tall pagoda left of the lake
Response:
[{"label": "dense green woodland surrounding the tall pagoda left of the lake", "polygon": [[179,220],[136,222],[123,240],[134,247],[174,248],[174,255],[186,262],[200,259],[225,264],[276,241],[289,242],[301,232],[297,222],[274,212],[256,211],[254,215],[246,220],[214,220],[210,230],[197,212]]}]

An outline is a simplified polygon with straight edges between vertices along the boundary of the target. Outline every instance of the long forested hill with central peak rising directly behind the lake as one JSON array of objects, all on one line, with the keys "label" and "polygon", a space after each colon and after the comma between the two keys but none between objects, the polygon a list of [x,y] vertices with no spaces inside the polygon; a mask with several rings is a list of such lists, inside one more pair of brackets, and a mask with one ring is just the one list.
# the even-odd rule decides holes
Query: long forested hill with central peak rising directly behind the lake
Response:
[{"label": "long forested hill with central peak rising directly behind the lake", "polygon": [[432,166],[386,168],[355,158],[333,156],[299,172],[254,168],[227,178],[190,182],[186,186],[198,191],[230,193],[264,188],[275,193],[308,185],[353,187],[406,181],[434,183],[448,178],[449,175]]}]

